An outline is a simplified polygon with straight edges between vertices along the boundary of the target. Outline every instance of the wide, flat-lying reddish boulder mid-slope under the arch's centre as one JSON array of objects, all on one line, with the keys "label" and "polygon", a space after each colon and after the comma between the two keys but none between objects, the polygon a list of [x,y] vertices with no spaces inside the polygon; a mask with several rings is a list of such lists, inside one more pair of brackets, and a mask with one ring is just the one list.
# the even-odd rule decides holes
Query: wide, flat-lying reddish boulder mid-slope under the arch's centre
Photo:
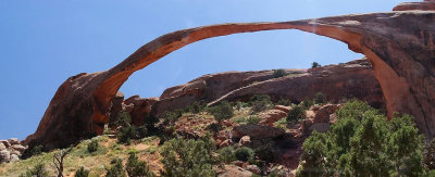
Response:
[{"label": "wide, flat-lying reddish boulder mid-slope under the arch's centre", "polygon": [[274,139],[285,134],[279,128],[252,124],[236,126],[232,132],[234,138],[249,136],[251,139]]}]

